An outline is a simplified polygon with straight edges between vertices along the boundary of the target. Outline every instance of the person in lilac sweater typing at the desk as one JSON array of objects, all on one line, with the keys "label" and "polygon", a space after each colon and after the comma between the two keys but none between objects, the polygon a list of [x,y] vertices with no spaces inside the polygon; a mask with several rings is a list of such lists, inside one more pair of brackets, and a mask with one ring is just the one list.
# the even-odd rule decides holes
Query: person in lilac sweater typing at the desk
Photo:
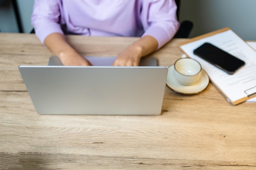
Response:
[{"label": "person in lilac sweater typing at the desk", "polygon": [[92,65],[65,34],[137,36],[113,66],[138,66],[141,57],[170,41],[179,22],[174,0],[35,0],[31,23],[40,41],[64,65]]}]

